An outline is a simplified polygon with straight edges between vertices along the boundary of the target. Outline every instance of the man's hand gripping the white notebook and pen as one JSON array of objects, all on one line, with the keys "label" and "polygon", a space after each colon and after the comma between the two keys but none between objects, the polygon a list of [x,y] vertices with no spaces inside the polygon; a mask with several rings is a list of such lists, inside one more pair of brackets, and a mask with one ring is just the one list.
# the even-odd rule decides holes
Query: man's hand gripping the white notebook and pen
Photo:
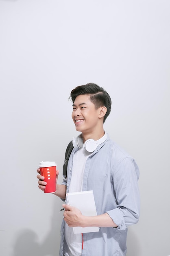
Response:
[{"label": "man's hand gripping the white notebook and pen", "polygon": [[81,211],[76,207],[72,207],[68,204],[63,204],[64,211],[64,220],[69,227],[85,227],[83,224],[83,218]]}]

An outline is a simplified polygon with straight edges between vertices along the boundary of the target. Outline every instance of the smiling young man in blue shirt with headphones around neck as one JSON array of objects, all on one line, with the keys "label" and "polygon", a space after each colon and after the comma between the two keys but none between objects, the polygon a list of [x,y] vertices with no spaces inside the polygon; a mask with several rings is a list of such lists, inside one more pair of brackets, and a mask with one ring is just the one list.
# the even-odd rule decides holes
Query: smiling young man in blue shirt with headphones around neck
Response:
[{"label": "smiling young man in blue shirt with headphones around neck", "polygon": [[[72,119],[81,132],[73,139],[67,180],[54,193],[93,190],[97,216],[83,216],[63,204],[60,256],[125,256],[127,225],[139,220],[139,169],[135,160],[109,139],[103,123],[111,111],[109,94],[89,83],[72,90]],[[39,173],[39,169],[37,169]],[[57,171],[58,177],[59,171]],[[37,175],[39,189],[44,177]],[[100,227],[99,232],[74,234],[72,227]]]}]

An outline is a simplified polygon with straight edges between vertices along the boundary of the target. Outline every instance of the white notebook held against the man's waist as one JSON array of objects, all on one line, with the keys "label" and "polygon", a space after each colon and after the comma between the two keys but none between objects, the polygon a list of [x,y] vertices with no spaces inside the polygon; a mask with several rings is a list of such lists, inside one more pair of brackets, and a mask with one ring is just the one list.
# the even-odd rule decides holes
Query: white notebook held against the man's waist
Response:
[{"label": "white notebook held against the man's waist", "polygon": [[[85,216],[97,216],[93,191],[67,193],[66,198],[70,206],[78,208]],[[99,227],[73,227],[74,234],[98,232]]]}]

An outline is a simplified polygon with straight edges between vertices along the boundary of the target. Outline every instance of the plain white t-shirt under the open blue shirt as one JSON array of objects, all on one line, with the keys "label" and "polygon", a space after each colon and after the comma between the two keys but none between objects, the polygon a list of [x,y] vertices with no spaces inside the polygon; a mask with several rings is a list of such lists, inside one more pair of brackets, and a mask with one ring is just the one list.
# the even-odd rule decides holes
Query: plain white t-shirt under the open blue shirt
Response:
[{"label": "plain white t-shirt under the open blue shirt", "polygon": [[[92,155],[92,153],[85,150],[84,146],[74,153],[69,193],[82,191],[85,163],[89,155]],[[64,255],[81,256],[82,234],[74,234],[73,228],[68,227],[66,222],[64,224],[64,238],[65,244],[69,245],[64,247]]]}]

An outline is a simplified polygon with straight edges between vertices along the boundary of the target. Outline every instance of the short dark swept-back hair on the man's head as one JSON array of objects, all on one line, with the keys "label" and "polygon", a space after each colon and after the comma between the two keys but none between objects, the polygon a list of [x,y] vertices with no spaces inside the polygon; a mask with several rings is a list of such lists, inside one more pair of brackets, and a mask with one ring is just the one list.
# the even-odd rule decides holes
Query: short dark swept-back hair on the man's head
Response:
[{"label": "short dark swept-back hair on the man's head", "polygon": [[109,94],[96,83],[87,83],[85,85],[77,86],[75,89],[73,89],[70,93],[70,99],[74,103],[76,97],[81,94],[89,94],[90,101],[94,103],[96,109],[102,106],[107,108],[107,112],[103,119],[104,123],[111,111],[111,98]]}]

